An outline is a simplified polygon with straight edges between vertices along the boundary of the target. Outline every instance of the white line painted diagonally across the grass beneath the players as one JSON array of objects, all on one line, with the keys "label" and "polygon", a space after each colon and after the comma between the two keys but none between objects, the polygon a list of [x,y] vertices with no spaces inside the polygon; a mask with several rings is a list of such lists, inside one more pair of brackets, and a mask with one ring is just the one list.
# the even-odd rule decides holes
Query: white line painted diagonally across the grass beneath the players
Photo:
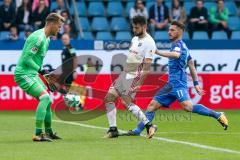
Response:
[{"label": "white line painted diagonally across the grass beneath the players", "polygon": [[[108,128],[105,128],[105,127],[99,127],[99,126],[94,126],[94,125],[82,124],[82,123],[77,123],[77,122],[67,122],[67,121],[60,121],[60,120],[53,120],[53,121],[54,122],[58,122],[58,123],[64,123],[64,124],[71,124],[71,125],[81,126],[81,127],[85,127],[85,128],[108,130]],[[124,130],[119,130],[119,131],[120,132],[126,132]],[[144,135],[141,135],[141,136],[144,137]],[[231,149],[227,149],[227,148],[212,147],[212,146],[202,145],[202,144],[198,144],[198,143],[179,141],[179,140],[173,140],[173,139],[162,138],[162,137],[153,137],[153,139],[156,139],[156,140],[159,140],[159,141],[165,141],[165,142],[169,142],[169,143],[184,144],[184,145],[193,146],[193,147],[202,148],[202,149],[207,149],[207,150],[212,150],[212,151],[240,154],[240,151],[231,150]]]}]

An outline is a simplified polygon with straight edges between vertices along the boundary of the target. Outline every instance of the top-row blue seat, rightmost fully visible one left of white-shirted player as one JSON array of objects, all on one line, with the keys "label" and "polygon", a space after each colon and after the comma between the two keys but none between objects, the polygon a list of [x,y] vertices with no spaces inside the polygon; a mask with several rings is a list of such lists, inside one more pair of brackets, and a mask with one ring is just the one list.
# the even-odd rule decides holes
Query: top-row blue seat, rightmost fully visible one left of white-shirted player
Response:
[{"label": "top-row blue seat, rightmost fully visible one left of white-shirted player", "polygon": [[122,16],[123,6],[121,2],[108,2],[107,15],[108,16]]}]

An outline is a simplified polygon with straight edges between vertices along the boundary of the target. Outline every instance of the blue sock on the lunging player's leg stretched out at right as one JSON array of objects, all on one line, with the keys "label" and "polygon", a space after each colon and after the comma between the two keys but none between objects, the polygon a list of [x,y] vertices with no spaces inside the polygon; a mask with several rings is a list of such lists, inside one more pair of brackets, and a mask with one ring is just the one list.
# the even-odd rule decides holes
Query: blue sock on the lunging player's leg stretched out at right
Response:
[{"label": "blue sock on the lunging player's leg stretched out at right", "polygon": [[204,115],[204,116],[214,117],[216,119],[218,119],[221,115],[221,113],[211,110],[201,104],[193,105],[192,113],[197,113],[197,114]]}]

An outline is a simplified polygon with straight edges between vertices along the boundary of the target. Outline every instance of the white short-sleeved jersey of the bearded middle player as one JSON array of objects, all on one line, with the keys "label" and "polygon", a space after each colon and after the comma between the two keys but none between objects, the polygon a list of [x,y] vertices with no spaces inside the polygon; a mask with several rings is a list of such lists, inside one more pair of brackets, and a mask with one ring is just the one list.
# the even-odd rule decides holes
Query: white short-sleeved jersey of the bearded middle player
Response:
[{"label": "white short-sleeved jersey of the bearded middle player", "polygon": [[137,36],[133,37],[129,47],[127,64],[124,67],[124,71],[127,73],[129,78],[135,78],[141,74],[144,59],[153,59],[155,51],[155,41],[149,34],[146,34],[143,38],[139,38]]}]

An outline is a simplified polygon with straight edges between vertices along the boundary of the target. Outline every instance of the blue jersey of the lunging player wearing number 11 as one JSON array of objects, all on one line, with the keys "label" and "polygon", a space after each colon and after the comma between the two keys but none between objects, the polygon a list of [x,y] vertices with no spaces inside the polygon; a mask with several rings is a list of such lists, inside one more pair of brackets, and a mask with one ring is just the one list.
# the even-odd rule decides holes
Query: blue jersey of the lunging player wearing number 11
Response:
[{"label": "blue jersey of the lunging player wearing number 11", "polygon": [[179,58],[169,58],[169,83],[175,88],[184,87],[187,88],[187,62],[191,59],[189,50],[186,44],[179,40],[172,44],[170,51],[180,53]]}]

